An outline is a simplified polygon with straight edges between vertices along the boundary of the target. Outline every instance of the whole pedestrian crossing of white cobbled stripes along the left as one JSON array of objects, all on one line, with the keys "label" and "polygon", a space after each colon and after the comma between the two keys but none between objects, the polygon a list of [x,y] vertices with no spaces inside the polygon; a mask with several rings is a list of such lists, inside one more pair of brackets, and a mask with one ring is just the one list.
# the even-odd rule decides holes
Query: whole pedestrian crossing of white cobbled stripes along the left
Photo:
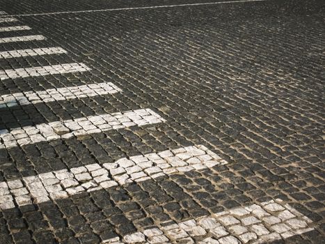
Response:
[{"label": "whole pedestrian crossing of white cobbled stripes along the left", "polygon": [[[6,15],[0,12],[0,15]],[[13,17],[0,17],[0,23],[17,22]],[[0,32],[27,31],[29,26],[2,26]],[[0,38],[0,43],[17,43],[34,40],[47,40],[42,35],[13,36]],[[62,47],[42,47],[34,49],[16,49],[0,52],[0,59],[17,57],[68,54]],[[64,75],[89,72],[85,63],[61,63],[50,66],[34,66],[0,70],[0,80],[14,80],[45,75]],[[84,84],[46,89],[44,91],[22,91],[0,96],[0,109],[12,109],[15,106],[35,105],[105,96],[120,93],[122,89],[112,82]],[[150,108],[139,108],[116,113],[85,116],[65,121],[38,123],[21,128],[0,130],[0,150],[30,146],[41,142],[64,141],[72,137],[100,134],[109,130],[121,130],[130,127],[166,123],[166,119]],[[95,163],[81,167],[48,171],[43,174],[23,176],[10,181],[0,181],[0,209],[41,204],[58,199],[69,199],[81,192],[93,192],[103,189],[123,187],[129,183],[156,181],[171,174],[184,174],[190,171],[212,169],[227,165],[219,155],[203,145],[179,146],[176,149],[132,155],[102,165]],[[279,221],[278,221],[279,220]],[[285,221],[287,229],[279,226]],[[196,236],[200,243],[262,243],[269,240],[288,238],[295,234],[311,231],[312,220],[280,200],[268,201],[259,205],[251,204],[244,208],[231,208],[228,211],[214,213],[211,216],[192,218],[186,222],[167,223],[164,227],[145,229],[127,234],[121,238],[103,240],[102,243],[187,243]],[[281,223],[283,224],[283,223]],[[191,242],[188,242],[191,243]]]}]

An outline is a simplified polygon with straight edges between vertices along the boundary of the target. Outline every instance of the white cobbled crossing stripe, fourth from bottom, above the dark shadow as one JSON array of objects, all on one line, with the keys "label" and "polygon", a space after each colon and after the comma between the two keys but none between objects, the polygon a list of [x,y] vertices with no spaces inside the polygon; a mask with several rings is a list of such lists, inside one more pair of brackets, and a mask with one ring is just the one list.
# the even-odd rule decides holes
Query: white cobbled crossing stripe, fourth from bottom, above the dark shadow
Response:
[{"label": "white cobbled crossing stripe, fourth from bottom, above the dark shadow", "polygon": [[45,91],[26,91],[0,96],[1,107],[13,107],[20,105],[36,104],[40,102],[54,102],[76,98],[87,98],[122,91],[111,82],[98,84],[86,84],[82,86],[70,86],[58,89],[47,89]]}]

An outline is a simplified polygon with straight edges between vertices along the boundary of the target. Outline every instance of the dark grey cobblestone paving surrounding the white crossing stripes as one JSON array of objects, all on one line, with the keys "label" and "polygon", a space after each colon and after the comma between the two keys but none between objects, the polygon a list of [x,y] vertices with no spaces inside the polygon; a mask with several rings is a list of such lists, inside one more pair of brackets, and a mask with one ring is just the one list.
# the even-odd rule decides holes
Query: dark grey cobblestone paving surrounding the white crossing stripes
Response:
[{"label": "dark grey cobblestone paving surrounding the white crossing stripes", "polygon": [[[0,0],[8,14],[203,1]],[[274,243],[324,243],[324,3],[215,6],[17,17],[47,40],[13,49],[68,54],[0,59],[1,70],[85,63],[88,72],[0,81],[0,96],[112,82],[122,92],[0,107],[0,130],[150,108],[164,123],[0,148],[0,182],[180,146],[205,145],[227,165],[82,192],[0,213],[1,243],[100,243],[238,206],[282,199],[314,230]],[[190,242],[188,242],[190,243]]]}]

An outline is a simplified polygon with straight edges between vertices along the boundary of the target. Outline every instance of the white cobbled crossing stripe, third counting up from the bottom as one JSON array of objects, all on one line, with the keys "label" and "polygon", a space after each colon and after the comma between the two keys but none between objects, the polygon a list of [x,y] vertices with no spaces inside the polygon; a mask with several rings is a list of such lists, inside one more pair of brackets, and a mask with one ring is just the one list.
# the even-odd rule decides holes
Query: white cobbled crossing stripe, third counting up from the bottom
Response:
[{"label": "white cobbled crossing stripe, third counting up from the bottom", "polygon": [[[134,125],[161,123],[165,120],[151,109],[88,116],[68,121],[41,123],[13,130],[0,130],[0,148],[11,148],[55,139],[118,130]],[[1,142],[2,141],[2,142]]]}]

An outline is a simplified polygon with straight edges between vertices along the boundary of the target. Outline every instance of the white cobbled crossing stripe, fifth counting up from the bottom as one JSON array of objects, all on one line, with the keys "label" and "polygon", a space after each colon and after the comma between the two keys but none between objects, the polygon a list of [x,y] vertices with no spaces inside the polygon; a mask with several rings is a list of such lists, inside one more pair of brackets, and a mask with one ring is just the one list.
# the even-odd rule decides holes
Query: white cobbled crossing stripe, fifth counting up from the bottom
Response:
[{"label": "white cobbled crossing stripe, fifth counting up from the bottom", "polygon": [[54,66],[39,66],[17,68],[15,70],[0,70],[0,79],[15,79],[19,77],[37,77],[66,73],[85,72],[90,70],[84,63],[63,63]]}]

